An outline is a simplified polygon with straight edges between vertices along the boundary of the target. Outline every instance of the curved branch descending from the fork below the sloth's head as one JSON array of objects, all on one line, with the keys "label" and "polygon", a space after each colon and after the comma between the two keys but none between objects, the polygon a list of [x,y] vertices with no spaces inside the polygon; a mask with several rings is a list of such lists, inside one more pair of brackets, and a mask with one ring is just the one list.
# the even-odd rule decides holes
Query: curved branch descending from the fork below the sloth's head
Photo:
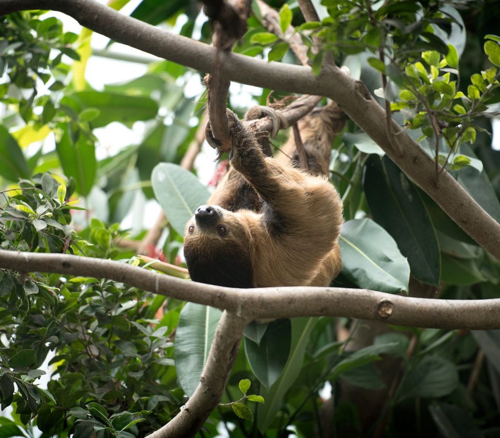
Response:
[{"label": "curved branch descending from the fork below the sloth's head", "polygon": [[222,398],[227,377],[239,350],[243,329],[249,321],[224,311],[213,336],[199,384],[180,412],[150,438],[194,436]]}]

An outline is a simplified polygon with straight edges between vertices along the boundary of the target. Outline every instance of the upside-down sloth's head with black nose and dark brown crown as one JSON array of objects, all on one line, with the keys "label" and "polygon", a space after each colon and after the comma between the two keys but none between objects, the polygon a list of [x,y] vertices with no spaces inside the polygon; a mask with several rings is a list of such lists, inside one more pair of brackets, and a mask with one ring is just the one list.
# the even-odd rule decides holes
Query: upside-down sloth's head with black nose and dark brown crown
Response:
[{"label": "upside-down sloth's head with black nose and dark brown crown", "polygon": [[241,214],[201,205],[184,229],[184,258],[194,281],[252,287],[250,231]]}]

